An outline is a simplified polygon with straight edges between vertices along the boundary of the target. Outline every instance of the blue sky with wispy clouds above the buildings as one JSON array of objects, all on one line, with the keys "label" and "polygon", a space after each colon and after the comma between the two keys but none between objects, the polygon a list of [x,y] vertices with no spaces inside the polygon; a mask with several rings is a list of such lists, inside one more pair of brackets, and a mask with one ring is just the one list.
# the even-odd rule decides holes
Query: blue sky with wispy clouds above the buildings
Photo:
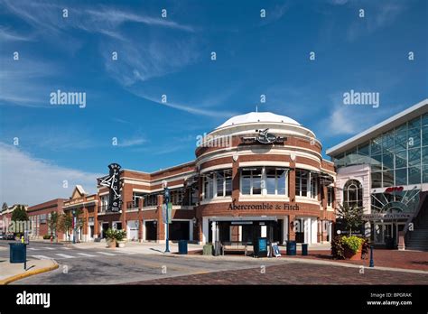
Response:
[{"label": "blue sky with wispy clouds above the buildings", "polygon": [[[110,162],[191,161],[197,135],[256,106],[325,151],[428,97],[427,13],[423,0],[0,0],[0,201],[94,191]],[[52,106],[58,89],[85,92],[86,107]],[[380,106],[344,106],[350,89]]]}]

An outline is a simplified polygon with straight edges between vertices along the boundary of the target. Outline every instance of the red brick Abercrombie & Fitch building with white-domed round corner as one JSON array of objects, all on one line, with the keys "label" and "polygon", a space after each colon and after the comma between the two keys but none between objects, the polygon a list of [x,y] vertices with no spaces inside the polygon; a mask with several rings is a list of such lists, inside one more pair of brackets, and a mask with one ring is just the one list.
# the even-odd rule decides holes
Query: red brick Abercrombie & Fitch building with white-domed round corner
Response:
[{"label": "red brick Abercrombie & Fitch building with white-domed round corner", "polygon": [[93,235],[113,227],[129,239],[164,242],[166,181],[172,241],[330,241],[336,173],[321,149],[311,130],[287,116],[237,115],[200,138],[195,161],[152,173],[121,170],[120,212],[107,211],[109,190],[98,186]]}]

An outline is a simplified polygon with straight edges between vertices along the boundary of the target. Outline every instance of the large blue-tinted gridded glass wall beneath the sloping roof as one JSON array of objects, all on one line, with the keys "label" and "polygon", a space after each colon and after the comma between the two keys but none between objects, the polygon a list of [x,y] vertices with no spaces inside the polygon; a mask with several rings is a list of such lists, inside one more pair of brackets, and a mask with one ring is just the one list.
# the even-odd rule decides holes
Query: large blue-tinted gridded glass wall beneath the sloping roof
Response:
[{"label": "large blue-tinted gridded glass wall beneath the sloping roof", "polygon": [[428,182],[428,116],[403,125],[333,156],[338,168],[370,164],[372,189]]}]

